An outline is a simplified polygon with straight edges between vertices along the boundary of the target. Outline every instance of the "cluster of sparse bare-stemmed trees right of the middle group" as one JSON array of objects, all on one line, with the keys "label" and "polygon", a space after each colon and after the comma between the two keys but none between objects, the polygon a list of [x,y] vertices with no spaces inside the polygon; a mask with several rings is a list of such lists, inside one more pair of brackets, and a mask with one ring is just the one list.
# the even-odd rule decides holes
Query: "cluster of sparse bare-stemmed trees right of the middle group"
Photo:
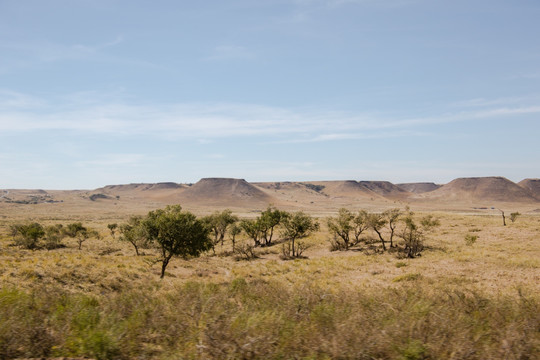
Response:
[{"label": "cluster of sparse bare-stemmed trees right of the middle group", "polygon": [[[402,226],[398,229],[400,223]],[[368,213],[365,210],[353,213],[341,208],[336,217],[328,218],[327,224],[332,235],[332,250],[349,250],[361,242],[367,242],[369,237],[362,234],[370,230],[377,235],[383,251],[398,248],[405,256],[413,258],[423,250],[426,233],[438,226],[439,221],[428,215],[417,222],[409,209],[405,213],[399,209],[382,213]],[[402,240],[401,244],[395,241],[396,236]]]}]

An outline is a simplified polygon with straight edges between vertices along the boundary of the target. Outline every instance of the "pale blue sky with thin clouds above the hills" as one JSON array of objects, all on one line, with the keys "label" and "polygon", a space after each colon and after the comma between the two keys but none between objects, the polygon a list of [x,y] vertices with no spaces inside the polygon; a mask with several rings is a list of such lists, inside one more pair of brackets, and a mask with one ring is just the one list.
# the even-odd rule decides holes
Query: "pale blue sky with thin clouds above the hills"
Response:
[{"label": "pale blue sky with thin clouds above the hills", "polygon": [[0,0],[0,188],[540,177],[538,0]]}]

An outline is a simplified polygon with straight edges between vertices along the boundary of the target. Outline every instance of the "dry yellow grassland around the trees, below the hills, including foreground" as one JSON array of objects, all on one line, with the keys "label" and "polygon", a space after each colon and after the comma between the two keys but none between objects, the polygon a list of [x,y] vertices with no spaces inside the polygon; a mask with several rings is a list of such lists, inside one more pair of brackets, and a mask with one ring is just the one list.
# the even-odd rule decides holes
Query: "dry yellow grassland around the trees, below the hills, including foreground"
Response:
[{"label": "dry yellow grassland around the trees, below the hills, including foreground", "polygon": [[499,216],[430,214],[441,226],[416,259],[369,240],[330,252],[321,219],[304,259],[281,260],[278,241],[237,261],[226,243],[174,259],[163,280],[153,250],[135,256],[108,233],[123,213],[77,213],[102,235],[80,251],[70,239],[50,251],[11,246],[8,226],[25,217],[5,215],[0,358],[540,358],[540,217],[502,226]]}]

